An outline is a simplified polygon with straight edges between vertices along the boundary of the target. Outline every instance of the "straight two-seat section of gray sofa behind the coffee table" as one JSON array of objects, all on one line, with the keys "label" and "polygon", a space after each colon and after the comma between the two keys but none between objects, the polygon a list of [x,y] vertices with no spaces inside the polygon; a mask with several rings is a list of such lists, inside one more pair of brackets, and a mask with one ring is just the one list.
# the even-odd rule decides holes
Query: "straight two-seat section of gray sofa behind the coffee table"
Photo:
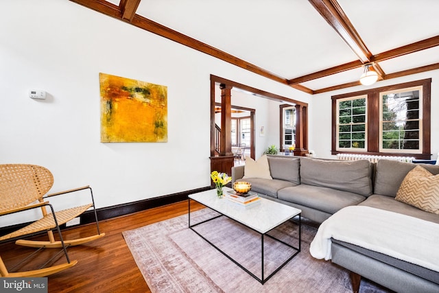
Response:
[{"label": "straight two-seat section of gray sofa behind the coffee table", "polygon": [[243,178],[241,165],[232,168],[232,182],[248,181],[261,197],[301,209],[302,217],[314,222],[372,195],[373,169],[367,160],[268,156],[268,164],[272,179]]}]

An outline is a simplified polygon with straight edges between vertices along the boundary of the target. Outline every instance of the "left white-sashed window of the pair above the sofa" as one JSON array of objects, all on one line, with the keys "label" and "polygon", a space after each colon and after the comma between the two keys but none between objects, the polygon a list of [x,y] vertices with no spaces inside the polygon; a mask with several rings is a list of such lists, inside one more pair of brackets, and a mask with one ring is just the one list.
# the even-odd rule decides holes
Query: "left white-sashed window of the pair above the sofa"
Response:
[{"label": "left white-sashed window of the pair above the sofa", "polygon": [[337,150],[367,150],[366,101],[366,95],[337,100]]}]

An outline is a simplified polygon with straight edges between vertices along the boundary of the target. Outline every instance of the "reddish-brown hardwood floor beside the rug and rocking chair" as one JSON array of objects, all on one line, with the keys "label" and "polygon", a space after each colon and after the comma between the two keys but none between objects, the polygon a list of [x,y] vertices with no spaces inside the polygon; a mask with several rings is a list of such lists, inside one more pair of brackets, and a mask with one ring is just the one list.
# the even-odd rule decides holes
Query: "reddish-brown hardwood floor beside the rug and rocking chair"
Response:
[{"label": "reddish-brown hardwood floor beside the rug and rocking chair", "polygon": [[[78,264],[49,276],[49,292],[151,292],[126,246],[122,232],[183,215],[187,213],[187,208],[187,201],[183,201],[99,222],[100,230],[106,233],[105,237],[69,248],[70,259],[77,259]],[[201,204],[191,202],[191,211],[202,208]],[[64,230],[62,235],[64,239],[73,239],[93,235],[95,231],[96,226],[90,224]],[[10,242],[2,244],[0,251],[6,267],[10,268],[17,259],[34,250]],[[43,250],[21,270],[36,268],[36,264],[55,252],[58,250]],[[56,263],[63,262],[65,257],[61,255]]]}]

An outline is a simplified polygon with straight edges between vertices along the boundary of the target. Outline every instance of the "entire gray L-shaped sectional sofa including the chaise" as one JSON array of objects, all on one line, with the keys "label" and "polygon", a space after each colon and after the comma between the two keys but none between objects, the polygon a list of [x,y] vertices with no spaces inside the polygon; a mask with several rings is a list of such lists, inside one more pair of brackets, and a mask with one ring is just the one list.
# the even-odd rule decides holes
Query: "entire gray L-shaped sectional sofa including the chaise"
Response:
[{"label": "entire gray L-shaped sectional sofa including the chaise", "polygon": [[[395,200],[403,179],[418,164],[291,156],[268,156],[268,163],[271,180],[243,178],[244,166],[238,166],[232,169],[232,182],[248,181],[261,197],[297,207],[303,217],[318,223],[344,207],[360,205],[439,224],[438,214]],[[439,165],[422,165],[439,174]],[[335,239],[331,250],[333,263],[351,271],[354,292],[361,276],[396,292],[439,292],[439,272],[434,270]]]}]

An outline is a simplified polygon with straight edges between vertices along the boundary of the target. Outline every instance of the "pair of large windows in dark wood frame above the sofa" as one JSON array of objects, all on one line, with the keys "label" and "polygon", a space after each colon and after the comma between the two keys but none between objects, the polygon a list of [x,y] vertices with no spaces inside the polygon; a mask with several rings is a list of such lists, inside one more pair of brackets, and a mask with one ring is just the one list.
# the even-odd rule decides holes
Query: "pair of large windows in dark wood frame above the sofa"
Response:
[{"label": "pair of large windows in dark wood frame above the sofa", "polygon": [[431,79],[332,97],[332,154],[430,156]]}]

